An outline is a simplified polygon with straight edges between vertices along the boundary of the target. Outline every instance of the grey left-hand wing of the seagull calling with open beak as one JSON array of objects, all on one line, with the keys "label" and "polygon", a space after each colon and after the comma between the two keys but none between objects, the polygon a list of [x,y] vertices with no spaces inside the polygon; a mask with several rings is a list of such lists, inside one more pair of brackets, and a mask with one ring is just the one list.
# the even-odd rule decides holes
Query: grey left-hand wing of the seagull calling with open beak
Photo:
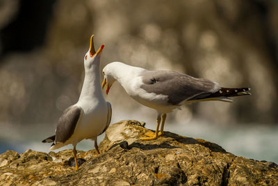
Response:
[{"label": "grey left-hand wing of the seagull calling with open beak", "polygon": [[82,109],[78,106],[71,106],[65,109],[56,126],[55,144],[57,142],[65,143],[67,139],[70,139],[79,118],[81,118],[81,113]]}]

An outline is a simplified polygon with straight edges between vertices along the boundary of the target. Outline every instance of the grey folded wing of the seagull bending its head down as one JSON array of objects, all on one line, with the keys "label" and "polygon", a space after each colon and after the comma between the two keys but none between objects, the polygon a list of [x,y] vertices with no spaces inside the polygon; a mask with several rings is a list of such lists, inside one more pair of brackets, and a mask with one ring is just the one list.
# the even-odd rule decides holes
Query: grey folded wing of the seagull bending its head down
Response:
[{"label": "grey folded wing of the seagull bending its head down", "polygon": [[179,104],[197,95],[215,93],[220,89],[218,83],[179,72],[146,70],[141,75],[143,84],[140,87],[148,93],[168,95],[170,104]]}]

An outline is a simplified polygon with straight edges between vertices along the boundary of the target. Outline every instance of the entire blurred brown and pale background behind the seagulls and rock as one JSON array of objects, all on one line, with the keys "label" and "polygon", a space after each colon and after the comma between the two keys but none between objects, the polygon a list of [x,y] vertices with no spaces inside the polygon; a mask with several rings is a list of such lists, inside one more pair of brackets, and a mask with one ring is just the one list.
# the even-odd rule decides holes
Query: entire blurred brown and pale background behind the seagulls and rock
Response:
[{"label": "entire blurred brown and pale background behind the seagulls and rock", "polygon": [[[0,0],[0,153],[49,152],[40,141],[79,99],[92,34],[96,48],[106,44],[101,68],[122,61],[252,88],[233,104],[184,106],[167,115],[165,130],[278,162],[276,0]],[[105,98],[111,123],[136,119],[155,129],[156,111],[119,84]],[[77,146],[91,148],[88,140]]]}]

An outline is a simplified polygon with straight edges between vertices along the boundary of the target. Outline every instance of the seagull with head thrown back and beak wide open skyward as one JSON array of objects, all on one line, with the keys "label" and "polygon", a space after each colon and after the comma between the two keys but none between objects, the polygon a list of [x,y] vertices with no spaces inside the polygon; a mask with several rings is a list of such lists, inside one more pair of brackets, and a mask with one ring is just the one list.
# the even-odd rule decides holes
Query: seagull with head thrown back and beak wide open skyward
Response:
[{"label": "seagull with head thrown back and beak wide open skyward", "polygon": [[90,49],[84,57],[85,78],[78,102],[63,111],[56,125],[55,135],[44,139],[43,143],[53,143],[50,150],[72,144],[76,170],[76,144],[83,139],[95,141],[104,133],[111,122],[111,104],[104,100],[100,86],[100,57],[104,45],[95,52],[94,35],[90,38]]}]

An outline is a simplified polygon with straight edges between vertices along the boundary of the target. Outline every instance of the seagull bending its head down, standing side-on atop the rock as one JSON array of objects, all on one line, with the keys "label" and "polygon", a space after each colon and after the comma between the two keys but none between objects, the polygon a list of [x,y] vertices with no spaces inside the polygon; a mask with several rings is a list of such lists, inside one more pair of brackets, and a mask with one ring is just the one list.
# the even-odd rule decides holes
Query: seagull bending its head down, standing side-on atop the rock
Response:
[{"label": "seagull bending its head down, standing side-on atop the rock", "polygon": [[[250,95],[250,88],[222,88],[218,83],[168,70],[146,70],[121,62],[108,63],[102,71],[106,94],[115,81],[119,82],[126,93],[134,100],[156,109],[156,132],[147,132],[143,140],[157,139],[163,134],[167,113],[179,109],[183,104],[219,100],[232,102],[231,98]],[[162,123],[161,123],[162,118]],[[159,125],[161,123],[161,130]]]}]

